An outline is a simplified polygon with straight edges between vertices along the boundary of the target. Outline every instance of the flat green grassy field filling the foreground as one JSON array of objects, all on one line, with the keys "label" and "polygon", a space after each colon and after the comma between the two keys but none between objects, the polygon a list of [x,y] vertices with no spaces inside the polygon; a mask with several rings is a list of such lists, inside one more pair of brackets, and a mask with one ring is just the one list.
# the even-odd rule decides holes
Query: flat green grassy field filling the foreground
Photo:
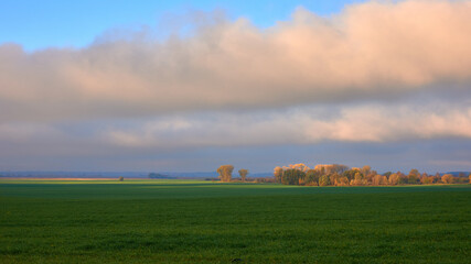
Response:
[{"label": "flat green grassy field filling the foreground", "polygon": [[471,263],[470,185],[1,180],[0,206],[0,263]]}]

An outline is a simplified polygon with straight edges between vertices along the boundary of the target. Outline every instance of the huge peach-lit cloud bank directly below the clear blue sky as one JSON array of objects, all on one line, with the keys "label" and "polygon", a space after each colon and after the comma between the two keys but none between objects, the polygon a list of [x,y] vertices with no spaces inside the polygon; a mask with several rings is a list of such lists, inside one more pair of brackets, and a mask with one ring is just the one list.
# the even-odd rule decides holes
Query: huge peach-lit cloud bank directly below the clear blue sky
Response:
[{"label": "huge peach-lit cloud bank directly below the clear blue sky", "polygon": [[217,18],[168,40],[143,31],[33,53],[2,44],[0,122],[274,109],[470,89],[471,1],[374,1],[332,18],[300,8],[266,30]]}]

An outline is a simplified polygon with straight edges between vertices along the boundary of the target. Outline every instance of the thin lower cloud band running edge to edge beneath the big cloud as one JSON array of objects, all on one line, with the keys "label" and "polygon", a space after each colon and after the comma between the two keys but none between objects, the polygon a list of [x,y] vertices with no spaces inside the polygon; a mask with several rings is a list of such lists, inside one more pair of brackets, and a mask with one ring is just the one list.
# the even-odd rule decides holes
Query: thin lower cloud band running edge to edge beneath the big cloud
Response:
[{"label": "thin lower cloud band running edge to edge beneath the big cloud", "polygon": [[471,140],[469,100],[460,103],[415,101],[170,114],[101,120],[100,124],[6,123],[0,125],[0,142],[88,142],[105,148],[174,151],[321,142],[394,144],[415,140]]}]

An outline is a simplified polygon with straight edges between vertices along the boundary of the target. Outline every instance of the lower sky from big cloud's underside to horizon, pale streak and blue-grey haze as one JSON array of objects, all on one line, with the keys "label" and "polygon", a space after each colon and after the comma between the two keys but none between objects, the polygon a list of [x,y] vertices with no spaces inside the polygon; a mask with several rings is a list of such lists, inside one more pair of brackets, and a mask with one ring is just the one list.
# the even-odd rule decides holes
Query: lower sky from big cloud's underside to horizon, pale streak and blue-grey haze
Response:
[{"label": "lower sky from big cloud's underside to horizon, pale streak and blue-grey haze", "polygon": [[[469,169],[471,106],[421,101],[0,125],[3,169],[212,170],[232,163]],[[420,103],[418,103],[420,102]],[[467,103],[468,102],[468,103]]]}]

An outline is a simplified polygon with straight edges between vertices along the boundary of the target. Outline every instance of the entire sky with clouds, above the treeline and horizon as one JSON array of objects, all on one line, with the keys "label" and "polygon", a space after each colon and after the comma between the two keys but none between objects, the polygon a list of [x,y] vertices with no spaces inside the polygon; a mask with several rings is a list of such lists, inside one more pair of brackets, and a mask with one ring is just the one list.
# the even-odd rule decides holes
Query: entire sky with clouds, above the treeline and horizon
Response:
[{"label": "entire sky with clouds, above the treeline and horizon", "polygon": [[471,1],[0,2],[0,170],[471,170]]}]

